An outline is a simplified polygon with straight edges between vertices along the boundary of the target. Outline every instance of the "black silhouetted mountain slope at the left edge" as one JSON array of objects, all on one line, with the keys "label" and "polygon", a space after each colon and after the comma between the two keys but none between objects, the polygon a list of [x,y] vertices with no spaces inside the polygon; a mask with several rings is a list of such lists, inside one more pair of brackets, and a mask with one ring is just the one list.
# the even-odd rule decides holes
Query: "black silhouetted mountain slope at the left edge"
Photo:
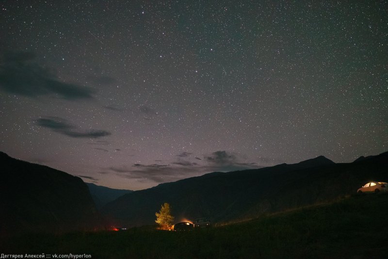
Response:
[{"label": "black silhouetted mountain slope at the left edge", "polygon": [[102,228],[81,178],[0,152],[0,234]]}]

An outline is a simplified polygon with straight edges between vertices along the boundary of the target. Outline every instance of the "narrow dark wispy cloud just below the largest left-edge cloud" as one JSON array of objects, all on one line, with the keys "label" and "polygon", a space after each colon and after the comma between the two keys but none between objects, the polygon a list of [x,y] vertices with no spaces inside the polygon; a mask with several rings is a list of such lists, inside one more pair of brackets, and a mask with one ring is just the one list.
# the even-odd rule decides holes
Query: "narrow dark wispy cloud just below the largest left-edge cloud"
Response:
[{"label": "narrow dark wispy cloud just below the largest left-edge cloud", "polygon": [[80,131],[60,117],[39,118],[35,120],[35,123],[38,126],[51,129],[54,132],[58,132],[72,138],[99,138],[111,135],[111,133],[106,130],[91,129],[88,131]]}]

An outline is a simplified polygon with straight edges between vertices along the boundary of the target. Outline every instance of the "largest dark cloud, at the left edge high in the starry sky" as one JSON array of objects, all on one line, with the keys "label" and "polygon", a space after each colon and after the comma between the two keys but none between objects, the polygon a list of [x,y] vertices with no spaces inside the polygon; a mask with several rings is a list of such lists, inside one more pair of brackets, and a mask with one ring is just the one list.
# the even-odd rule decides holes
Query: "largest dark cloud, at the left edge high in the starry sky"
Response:
[{"label": "largest dark cloud, at the left edge high in the starry sky", "polygon": [[8,93],[28,97],[92,98],[90,88],[60,81],[49,69],[33,63],[34,58],[32,52],[4,54],[4,63],[0,65],[0,87]]}]

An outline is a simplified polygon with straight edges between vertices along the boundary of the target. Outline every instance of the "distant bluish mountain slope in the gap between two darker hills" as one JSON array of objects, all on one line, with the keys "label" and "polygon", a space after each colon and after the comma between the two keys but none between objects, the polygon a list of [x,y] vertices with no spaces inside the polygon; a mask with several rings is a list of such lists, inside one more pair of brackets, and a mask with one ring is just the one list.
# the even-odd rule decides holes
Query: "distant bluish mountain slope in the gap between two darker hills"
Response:
[{"label": "distant bluish mountain slope in the gap between two darker hills", "polygon": [[97,209],[101,209],[108,202],[111,202],[124,194],[133,192],[131,190],[112,189],[89,182],[86,182],[86,185],[89,188],[90,194],[92,195]]}]

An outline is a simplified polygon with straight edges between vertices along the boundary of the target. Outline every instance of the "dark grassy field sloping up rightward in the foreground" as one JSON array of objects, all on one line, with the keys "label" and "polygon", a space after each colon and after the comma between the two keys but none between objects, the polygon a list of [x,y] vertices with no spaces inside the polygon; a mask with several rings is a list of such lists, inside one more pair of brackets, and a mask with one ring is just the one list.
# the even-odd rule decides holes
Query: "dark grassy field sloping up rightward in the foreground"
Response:
[{"label": "dark grassy field sloping up rightward in the foreground", "polygon": [[[388,194],[189,232],[156,230],[25,235],[2,239],[0,254],[87,254],[92,258],[387,258]],[[46,256],[47,258],[47,256]]]}]

